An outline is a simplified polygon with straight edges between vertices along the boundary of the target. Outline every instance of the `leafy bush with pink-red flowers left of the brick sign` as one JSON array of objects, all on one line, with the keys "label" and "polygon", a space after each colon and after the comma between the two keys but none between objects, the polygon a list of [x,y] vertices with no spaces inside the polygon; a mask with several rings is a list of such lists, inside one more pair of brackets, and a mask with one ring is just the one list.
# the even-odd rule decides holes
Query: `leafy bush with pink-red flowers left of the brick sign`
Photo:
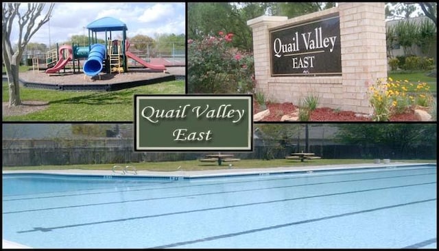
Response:
[{"label": "leafy bush with pink-red flowers left of the brick sign", "polygon": [[253,56],[233,48],[233,36],[187,41],[189,93],[253,93]]}]

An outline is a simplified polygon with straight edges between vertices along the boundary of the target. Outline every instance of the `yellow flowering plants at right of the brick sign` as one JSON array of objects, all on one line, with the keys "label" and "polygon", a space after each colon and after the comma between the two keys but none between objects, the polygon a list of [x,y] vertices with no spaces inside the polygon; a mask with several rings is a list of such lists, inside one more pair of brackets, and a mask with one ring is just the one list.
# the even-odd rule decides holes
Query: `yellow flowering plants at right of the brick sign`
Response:
[{"label": "yellow flowering plants at right of the brick sign", "polygon": [[369,102],[373,109],[372,120],[388,121],[390,116],[401,114],[416,105],[429,107],[434,101],[427,83],[410,83],[392,78],[378,79],[369,88]]}]

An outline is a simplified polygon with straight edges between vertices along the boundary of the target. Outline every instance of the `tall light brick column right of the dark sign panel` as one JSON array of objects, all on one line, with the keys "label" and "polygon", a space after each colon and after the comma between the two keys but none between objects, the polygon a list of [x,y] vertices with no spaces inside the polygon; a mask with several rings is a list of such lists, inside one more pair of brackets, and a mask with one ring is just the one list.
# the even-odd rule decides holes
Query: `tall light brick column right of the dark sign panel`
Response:
[{"label": "tall light brick column right of the dark sign panel", "polygon": [[371,114],[368,87],[387,77],[384,3],[340,3],[344,109]]}]

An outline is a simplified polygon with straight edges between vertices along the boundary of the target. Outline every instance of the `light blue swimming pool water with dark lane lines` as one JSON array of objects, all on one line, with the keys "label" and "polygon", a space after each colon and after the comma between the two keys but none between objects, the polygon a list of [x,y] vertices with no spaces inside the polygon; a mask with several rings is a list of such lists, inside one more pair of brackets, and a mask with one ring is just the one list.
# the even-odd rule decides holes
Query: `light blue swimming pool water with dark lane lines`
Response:
[{"label": "light blue swimming pool water with dark lane lines", "polygon": [[32,248],[436,248],[436,175],[3,174],[2,235]]}]

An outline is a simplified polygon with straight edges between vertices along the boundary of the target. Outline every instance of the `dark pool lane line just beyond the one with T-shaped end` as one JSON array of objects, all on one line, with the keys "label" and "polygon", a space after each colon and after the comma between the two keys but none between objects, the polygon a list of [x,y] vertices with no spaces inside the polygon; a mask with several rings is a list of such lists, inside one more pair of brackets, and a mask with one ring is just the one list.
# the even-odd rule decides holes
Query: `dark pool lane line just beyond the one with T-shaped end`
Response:
[{"label": "dark pool lane line just beyond the one with T-shaped end", "polygon": [[[422,176],[427,174],[414,174],[414,175],[404,175],[404,176],[394,176],[393,178],[402,178],[406,176]],[[278,187],[261,187],[261,188],[252,188],[252,189],[240,189],[240,190],[232,190],[232,191],[213,191],[209,193],[202,193],[202,194],[185,194],[185,195],[176,195],[176,196],[165,196],[165,197],[156,197],[156,198],[142,198],[142,199],[136,199],[136,200],[123,200],[123,201],[113,201],[113,202],[101,202],[101,203],[93,203],[93,204],[78,204],[78,205],[71,205],[71,206],[64,206],[64,207],[46,207],[43,209],[26,209],[26,210],[20,210],[20,211],[3,211],[3,214],[10,214],[10,213],[27,213],[27,212],[35,212],[35,211],[46,211],[46,210],[56,210],[56,209],[71,209],[76,207],[95,207],[95,206],[102,206],[106,204],[121,204],[121,203],[130,203],[130,202],[141,202],[141,201],[148,201],[148,200],[168,200],[168,199],[174,199],[174,198],[186,198],[186,197],[195,197],[195,196],[207,196],[207,195],[216,195],[216,194],[233,194],[233,193],[241,193],[246,191],[261,191],[261,190],[268,190],[268,189],[283,189],[283,188],[289,188],[289,187],[304,187],[309,185],[327,185],[327,184],[333,184],[333,183],[348,183],[348,182],[357,182],[357,181],[370,181],[370,180],[376,180],[376,179],[388,179],[388,178],[370,178],[370,179],[358,179],[358,180],[350,180],[350,181],[330,181],[330,182],[320,182],[320,183],[307,183],[307,184],[298,184],[298,185],[283,185]],[[3,200],[3,201],[10,201],[10,200]]]}]

